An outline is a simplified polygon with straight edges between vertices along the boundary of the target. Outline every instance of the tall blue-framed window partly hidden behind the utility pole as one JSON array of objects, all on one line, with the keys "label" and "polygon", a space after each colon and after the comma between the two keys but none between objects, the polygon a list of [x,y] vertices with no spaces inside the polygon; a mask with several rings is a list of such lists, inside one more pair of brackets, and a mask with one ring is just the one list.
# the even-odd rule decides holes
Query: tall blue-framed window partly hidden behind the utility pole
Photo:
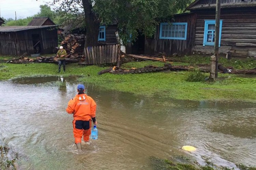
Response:
[{"label": "tall blue-framed window partly hidden behind the utility pole", "polygon": [[[221,47],[222,21],[219,21],[219,47]],[[215,20],[204,20],[203,46],[214,46]]]}]

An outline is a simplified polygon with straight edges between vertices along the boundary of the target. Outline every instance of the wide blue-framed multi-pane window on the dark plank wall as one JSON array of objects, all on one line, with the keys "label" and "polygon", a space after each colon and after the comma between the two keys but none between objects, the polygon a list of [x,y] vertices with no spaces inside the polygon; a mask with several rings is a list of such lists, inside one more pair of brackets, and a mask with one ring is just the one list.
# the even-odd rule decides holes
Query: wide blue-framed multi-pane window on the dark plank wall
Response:
[{"label": "wide blue-framed multi-pane window on the dark plank wall", "polygon": [[187,39],[187,22],[160,23],[160,39]]}]

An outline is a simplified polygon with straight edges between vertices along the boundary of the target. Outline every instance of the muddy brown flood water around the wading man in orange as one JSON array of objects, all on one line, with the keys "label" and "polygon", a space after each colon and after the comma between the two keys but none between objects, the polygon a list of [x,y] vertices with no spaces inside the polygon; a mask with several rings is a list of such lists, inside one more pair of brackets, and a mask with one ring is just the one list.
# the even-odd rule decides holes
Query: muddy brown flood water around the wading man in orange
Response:
[{"label": "muddy brown flood water around the wading man in orange", "polygon": [[65,112],[74,80],[0,82],[0,139],[21,155],[18,169],[154,169],[152,157],[174,155],[256,166],[255,103],[138,97],[92,86],[86,93],[97,103],[99,139],[77,153],[73,117]]}]

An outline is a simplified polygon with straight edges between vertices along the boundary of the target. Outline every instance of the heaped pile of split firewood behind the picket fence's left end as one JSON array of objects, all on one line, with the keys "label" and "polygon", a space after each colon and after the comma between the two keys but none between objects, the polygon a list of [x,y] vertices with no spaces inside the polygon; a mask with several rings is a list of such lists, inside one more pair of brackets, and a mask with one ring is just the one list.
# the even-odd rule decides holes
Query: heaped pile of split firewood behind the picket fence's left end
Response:
[{"label": "heaped pile of split firewood behind the picket fence's left end", "polygon": [[61,46],[67,51],[67,54],[82,55],[84,51],[85,35],[84,34],[69,34],[61,42]]}]

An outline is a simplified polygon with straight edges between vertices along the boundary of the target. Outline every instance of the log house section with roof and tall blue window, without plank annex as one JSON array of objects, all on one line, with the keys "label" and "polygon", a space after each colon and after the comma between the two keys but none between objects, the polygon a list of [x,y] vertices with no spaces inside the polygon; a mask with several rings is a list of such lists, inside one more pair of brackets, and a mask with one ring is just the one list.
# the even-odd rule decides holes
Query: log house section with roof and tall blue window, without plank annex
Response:
[{"label": "log house section with roof and tall blue window, without plank annex", "polygon": [[[196,0],[186,10],[196,13],[195,49],[213,53],[216,0]],[[221,0],[221,54],[256,56],[256,0]]]}]

